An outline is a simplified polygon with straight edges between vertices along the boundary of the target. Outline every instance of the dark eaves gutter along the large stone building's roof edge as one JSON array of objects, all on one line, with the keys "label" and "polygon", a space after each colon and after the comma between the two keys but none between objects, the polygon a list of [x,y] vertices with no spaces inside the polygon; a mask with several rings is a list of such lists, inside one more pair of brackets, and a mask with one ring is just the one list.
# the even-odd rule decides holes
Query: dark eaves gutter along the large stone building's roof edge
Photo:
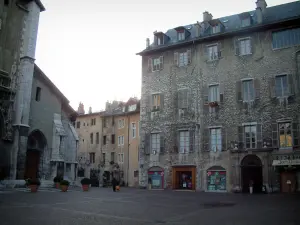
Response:
[{"label": "dark eaves gutter along the large stone building's roof edge", "polygon": [[206,41],[206,40],[219,39],[219,38],[222,38],[222,37],[232,36],[234,34],[246,33],[246,32],[251,32],[251,31],[255,31],[255,30],[266,29],[266,28],[272,27],[276,24],[288,23],[288,22],[295,21],[295,20],[298,20],[298,19],[300,19],[300,16],[296,16],[296,17],[292,17],[292,18],[287,19],[287,20],[280,20],[280,21],[276,21],[276,22],[268,23],[268,24],[258,24],[258,25],[252,26],[252,27],[245,27],[245,28],[242,28],[242,29],[232,30],[232,31],[221,33],[221,34],[210,35],[210,36],[207,36],[207,37],[196,37],[196,38],[193,38],[193,39],[185,41],[185,42],[178,42],[178,43],[175,43],[175,44],[170,44],[170,45],[167,45],[167,46],[162,46],[162,47],[159,47],[159,48],[154,48],[154,49],[149,49],[149,50],[146,49],[144,51],[136,53],[136,55],[144,56],[144,55],[148,55],[148,54],[151,54],[151,53],[154,53],[154,52],[165,51],[165,50],[168,50],[168,49],[173,49],[175,47],[190,45],[190,44],[193,44],[193,43],[203,42],[203,41]]}]

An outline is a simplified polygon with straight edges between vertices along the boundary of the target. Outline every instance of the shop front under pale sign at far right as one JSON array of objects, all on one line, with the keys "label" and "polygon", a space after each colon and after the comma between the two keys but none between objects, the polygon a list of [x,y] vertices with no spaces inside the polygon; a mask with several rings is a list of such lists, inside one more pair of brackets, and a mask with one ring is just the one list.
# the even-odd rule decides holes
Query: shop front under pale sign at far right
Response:
[{"label": "shop front under pale sign at far right", "polygon": [[300,154],[273,155],[272,166],[280,177],[280,191],[300,191]]}]

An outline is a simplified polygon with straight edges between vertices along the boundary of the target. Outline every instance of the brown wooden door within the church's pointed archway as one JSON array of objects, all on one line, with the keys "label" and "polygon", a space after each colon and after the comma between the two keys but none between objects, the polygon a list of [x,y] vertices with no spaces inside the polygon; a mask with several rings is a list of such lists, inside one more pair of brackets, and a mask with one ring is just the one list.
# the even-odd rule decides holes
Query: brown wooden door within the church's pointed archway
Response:
[{"label": "brown wooden door within the church's pointed archway", "polygon": [[26,154],[26,172],[24,178],[38,178],[39,164],[40,153],[38,151],[28,150]]}]

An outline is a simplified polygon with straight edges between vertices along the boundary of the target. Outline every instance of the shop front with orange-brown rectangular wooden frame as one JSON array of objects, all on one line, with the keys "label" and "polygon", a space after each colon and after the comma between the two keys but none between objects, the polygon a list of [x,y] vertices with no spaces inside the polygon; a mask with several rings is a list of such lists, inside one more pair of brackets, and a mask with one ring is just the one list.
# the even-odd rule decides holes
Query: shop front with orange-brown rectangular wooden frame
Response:
[{"label": "shop front with orange-brown rectangular wooden frame", "polygon": [[196,166],[174,166],[172,188],[177,190],[196,189]]}]

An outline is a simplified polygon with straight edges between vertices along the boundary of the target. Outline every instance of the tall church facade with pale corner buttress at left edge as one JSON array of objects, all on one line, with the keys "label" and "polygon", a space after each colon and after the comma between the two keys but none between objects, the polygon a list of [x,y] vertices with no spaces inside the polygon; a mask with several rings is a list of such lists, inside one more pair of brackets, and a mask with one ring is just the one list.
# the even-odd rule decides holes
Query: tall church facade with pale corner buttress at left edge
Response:
[{"label": "tall church facade with pale corner buttress at left edge", "polygon": [[23,167],[18,158],[24,158],[19,148],[26,151],[38,22],[44,10],[39,0],[0,3],[1,179],[23,176],[17,169]]}]

